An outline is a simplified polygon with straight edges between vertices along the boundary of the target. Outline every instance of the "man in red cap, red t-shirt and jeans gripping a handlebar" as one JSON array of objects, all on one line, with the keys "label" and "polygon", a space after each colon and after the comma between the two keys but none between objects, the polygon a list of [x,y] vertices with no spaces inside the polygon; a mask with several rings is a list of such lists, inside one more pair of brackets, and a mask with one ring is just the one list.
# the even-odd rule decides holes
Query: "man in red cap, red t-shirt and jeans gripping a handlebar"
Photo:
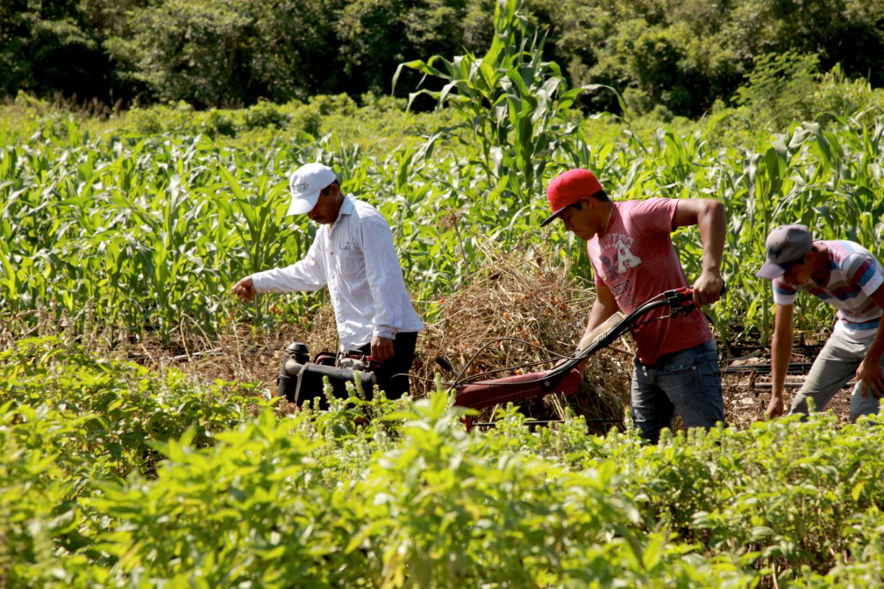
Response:
[{"label": "man in red cap, red t-shirt and jeans gripping a handlebar", "polygon": [[[697,309],[720,298],[724,206],[698,198],[649,198],[614,203],[589,170],[561,173],[546,189],[552,215],[587,241],[596,283],[586,333],[618,310],[629,313],[671,288],[688,286],[671,233],[697,225],[703,241],[703,270],[694,282]],[[676,411],[686,427],[724,422],[721,370],[712,330],[703,313],[661,321],[652,311],[637,326],[630,405],[642,436],[657,443]]]}]

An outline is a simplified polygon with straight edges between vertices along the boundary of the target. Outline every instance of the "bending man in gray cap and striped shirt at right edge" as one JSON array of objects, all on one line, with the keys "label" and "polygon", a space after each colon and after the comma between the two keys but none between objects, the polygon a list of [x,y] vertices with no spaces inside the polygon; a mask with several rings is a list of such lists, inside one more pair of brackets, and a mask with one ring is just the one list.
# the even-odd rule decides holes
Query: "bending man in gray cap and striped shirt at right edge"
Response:
[{"label": "bending man in gray cap and striped shirt at right edge", "polygon": [[838,310],[832,335],[814,360],[790,413],[806,414],[807,400],[823,409],[854,375],[850,421],[878,412],[884,394],[884,268],[853,241],[813,241],[803,225],[779,226],[767,236],[766,262],[758,277],[773,281],[776,314],[771,342],[773,389],[767,416],[783,413],[783,383],[792,355],[792,315],[798,291]]}]

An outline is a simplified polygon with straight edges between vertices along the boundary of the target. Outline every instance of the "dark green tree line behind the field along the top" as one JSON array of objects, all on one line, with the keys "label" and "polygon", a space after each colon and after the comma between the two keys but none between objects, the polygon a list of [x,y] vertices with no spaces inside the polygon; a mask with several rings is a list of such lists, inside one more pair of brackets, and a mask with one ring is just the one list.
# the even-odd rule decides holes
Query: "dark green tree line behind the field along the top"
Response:
[{"label": "dark green tree line behind the field along the top", "polygon": [[[884,82],[884,0],[525,0],[522,11],[572,84],[620,88],[637,112],[739,103],[774,55]],[[0,0],[0,96],[210,108],[388,94],[403,61],[482,53],[492,15],[492,0]]]}]

